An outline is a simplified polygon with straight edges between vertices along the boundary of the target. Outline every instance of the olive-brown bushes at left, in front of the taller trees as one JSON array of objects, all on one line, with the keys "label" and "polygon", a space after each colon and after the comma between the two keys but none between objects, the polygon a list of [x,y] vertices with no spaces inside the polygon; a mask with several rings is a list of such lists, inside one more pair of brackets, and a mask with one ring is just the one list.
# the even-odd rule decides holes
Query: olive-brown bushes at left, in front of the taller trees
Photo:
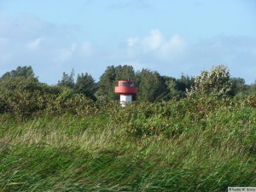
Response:
[{"label": "olive-brown bushes at left, in front of the taller trees", "polygon": [[52,87],[23,77],[0,82],[1,113],[11,113],[20,120],[34,115],[61,113],[93,114],[96,111],[90,98],[76,94],[67,87]]}]

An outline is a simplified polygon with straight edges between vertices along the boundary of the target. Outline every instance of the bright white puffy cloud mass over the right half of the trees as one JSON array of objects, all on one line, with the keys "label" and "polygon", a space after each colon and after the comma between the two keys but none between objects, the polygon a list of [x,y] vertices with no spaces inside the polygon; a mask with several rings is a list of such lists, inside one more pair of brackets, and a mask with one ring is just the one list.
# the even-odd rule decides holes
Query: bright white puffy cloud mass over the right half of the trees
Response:
[{"label": "bright white puffy cloud mass over the right half of the trees", "polygon": [[124,61],[143,63],[144,67],[172,77],[181,73],[195,76],[201,69],[224,64],[232,77],[244,78],[250,84],[256,73],[255,44],[255,38],[226,35],[192,43],[179,34],[167,37],[160,30],[153,30],[143,38],[128,38],[116,60],[123,54]]}]

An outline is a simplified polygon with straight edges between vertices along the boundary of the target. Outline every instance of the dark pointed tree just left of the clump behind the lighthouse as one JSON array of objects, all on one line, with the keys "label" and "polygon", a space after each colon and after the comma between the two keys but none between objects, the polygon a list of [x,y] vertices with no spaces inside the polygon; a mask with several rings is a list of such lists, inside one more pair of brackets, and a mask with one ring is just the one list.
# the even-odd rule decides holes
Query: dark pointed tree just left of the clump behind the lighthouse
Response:
[{"label": "dark pointed tree just left of the clump behind the lighthouse", "polygon": [[96,101],[96,90],[97,86],[95,80],[89,73],[82,73],[78,75],[76,84],[74,85],[74,90],[76,93],[83,94],[90,99]]}]

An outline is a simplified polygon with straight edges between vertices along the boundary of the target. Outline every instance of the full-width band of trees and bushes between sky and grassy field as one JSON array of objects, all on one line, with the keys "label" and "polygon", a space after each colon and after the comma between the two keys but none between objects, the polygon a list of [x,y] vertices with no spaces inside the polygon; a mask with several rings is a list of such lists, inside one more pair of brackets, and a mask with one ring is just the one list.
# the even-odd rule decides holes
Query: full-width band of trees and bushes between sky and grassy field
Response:
[{"label": "full-width band of trees and bushes between sky and grassy field", "polygon": [[143,69],[135,72],[133,67],[109,66],[99,82],[89,73],[74,70],[63,73],[55,85],[38,81],[32,67],[17,67],[0,78],[0,113],[9,113],[19,119],[48,113],[92,114],[99,110],[102,102],[119,100],[114,94],[118,80],[134,80],[138,87],[137,102],[166,102],[172,99],[212,95],[218,97],[253,95],[256,82],[245,84],[241,78],[231,78],[224,66],[202,71],[196,78],[182,75],[179,79],[162,76],[160,73]]}]

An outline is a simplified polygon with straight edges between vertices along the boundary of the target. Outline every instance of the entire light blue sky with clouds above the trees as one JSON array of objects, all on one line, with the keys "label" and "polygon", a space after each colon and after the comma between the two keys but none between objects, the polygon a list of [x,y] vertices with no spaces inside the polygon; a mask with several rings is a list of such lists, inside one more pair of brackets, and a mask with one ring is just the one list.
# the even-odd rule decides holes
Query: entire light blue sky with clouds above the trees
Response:
[{"label": "entire light blue sky with clouds above the trees", "polygon": [[255,0],[0,0],[0,77],[32,66],[40,82],[62,73],[131,65],[197,76],[226,65],[256,80]]}]

